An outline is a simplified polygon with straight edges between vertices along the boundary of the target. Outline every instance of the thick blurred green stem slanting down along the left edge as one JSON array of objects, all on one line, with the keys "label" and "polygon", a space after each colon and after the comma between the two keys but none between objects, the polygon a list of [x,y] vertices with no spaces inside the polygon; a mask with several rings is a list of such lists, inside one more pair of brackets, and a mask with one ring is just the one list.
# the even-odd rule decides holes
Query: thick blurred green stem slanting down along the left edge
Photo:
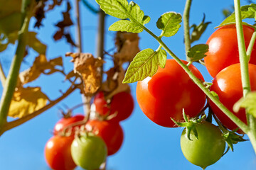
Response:
[{"label": "thick blurred green stem slanting down along the left edge", "polygon": [[21,30],[18,32],[18,45],[16,49],[16,53],[14,55],[14,60],[11,63],[11,68],[6,79],[5,88],[3,94],[1,96],[0,101],[0,128],[2,128],[6,123],[6,118],[9,112],[11,98],[14,94],[14,90],[16,88],[16,83],[18,79],[18,72],[21,67],[21,62],[23,60],[25,49],[26,49],[26,33],[28,32],[28,23],[30,21],[30,17],[28,17],[26,13],[26,9],[28,8],[28,4],[30,0],[22,1],[22,9],[23,12],[23,22],[21,26]]}]

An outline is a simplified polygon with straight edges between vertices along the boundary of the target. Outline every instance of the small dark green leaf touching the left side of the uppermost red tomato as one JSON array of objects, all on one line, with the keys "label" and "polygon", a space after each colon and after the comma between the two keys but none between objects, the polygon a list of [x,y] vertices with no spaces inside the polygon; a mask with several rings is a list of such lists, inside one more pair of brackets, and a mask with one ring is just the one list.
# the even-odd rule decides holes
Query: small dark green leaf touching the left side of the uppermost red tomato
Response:
[{"label": "small dark green leaf touching the left side of the uppermost red tomato", "polygon": [[203,57],[206,57],[208,50],[209,46],[206,44],[195,45],[188,50],[188,57],[191,58],[191,62],[201,60]]}]

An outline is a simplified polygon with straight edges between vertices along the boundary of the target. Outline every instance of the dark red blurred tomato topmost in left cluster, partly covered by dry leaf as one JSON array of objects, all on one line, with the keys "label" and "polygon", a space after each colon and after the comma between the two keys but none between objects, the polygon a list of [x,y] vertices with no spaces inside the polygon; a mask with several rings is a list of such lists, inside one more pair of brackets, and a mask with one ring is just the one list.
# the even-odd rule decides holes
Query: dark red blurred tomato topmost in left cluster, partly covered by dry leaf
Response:
[{"label": "dark red blurred tomato topmost in left cluster, partly covered by dry leaf", "polygon": [[95,104],[97,113],[100,113],[100,115],[112,115],[117,113],[117,115],[110,120],[111,122],[117,123],[127,119],[129,115],[132,114],[134,108],[132,95],[125,91],[115,94],[109,105],[105,100],[103,92],[100,91],[100,93],[95,96],[93,103]]}]

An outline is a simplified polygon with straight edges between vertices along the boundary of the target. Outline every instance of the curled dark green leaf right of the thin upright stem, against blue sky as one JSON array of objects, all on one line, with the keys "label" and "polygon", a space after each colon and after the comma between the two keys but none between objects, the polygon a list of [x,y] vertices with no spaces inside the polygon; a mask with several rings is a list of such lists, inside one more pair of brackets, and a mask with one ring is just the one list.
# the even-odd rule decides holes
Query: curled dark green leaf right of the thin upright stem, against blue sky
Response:
[{"label": "curled dark green leaf right of the thin upright stem, against blue sky", "polygon": [[208,25],[211,23],[211,22],[205,23],[205,18],[206,18],[206,15],[203,14],[203,21],[199,23],[198,26],[196,26],[196,24],[193,24],[191,26],[191,28],[193,28],[193,31],[191,33],[191,43],[196,40],[199,40],[201,38],[201,35],[204,33],[204,31],[208,27]]}]

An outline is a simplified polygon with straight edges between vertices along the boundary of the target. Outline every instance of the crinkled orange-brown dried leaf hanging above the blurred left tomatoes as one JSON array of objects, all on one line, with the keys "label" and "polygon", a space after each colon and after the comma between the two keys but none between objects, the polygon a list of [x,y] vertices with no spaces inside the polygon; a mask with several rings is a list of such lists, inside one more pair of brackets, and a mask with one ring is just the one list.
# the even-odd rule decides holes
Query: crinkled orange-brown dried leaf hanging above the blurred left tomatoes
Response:
[{"label": "crinkled orange-brown dried leaf hanging above the blurred left tomatoes", "polygon": [[92,96],[100,88],[100,67],[104,63],[100,58],[93,57],[89,53],[72,53],[66,56],[73,57],[74,72],[80,74],[84,83],[85,96]]}]

